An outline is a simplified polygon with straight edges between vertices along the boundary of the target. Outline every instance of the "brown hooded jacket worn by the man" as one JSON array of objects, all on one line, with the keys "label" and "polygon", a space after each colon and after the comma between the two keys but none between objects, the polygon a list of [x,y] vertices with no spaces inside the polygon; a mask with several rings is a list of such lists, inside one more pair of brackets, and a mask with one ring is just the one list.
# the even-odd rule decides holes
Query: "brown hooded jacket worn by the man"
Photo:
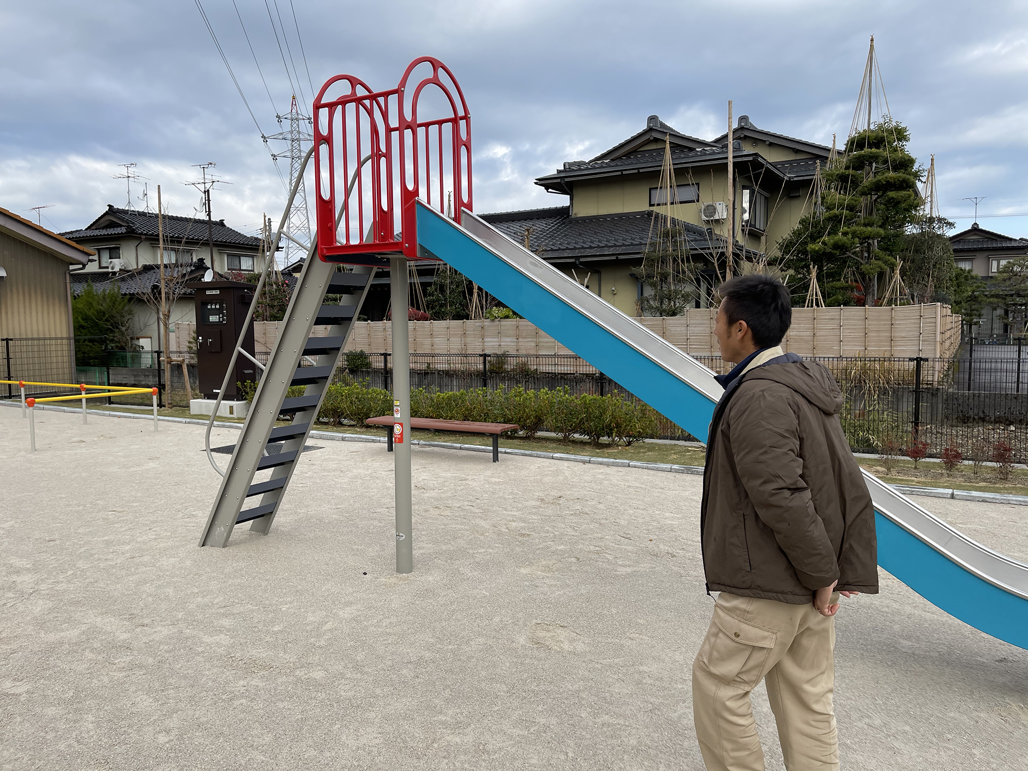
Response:
[{"label": "brown hooded jacket worn by the man", "polygon": [[708,591],[805,604],[878,592],[875,512],[846,441],[842,392],[788,354],[731,382],[714,408],[700,540]]}]

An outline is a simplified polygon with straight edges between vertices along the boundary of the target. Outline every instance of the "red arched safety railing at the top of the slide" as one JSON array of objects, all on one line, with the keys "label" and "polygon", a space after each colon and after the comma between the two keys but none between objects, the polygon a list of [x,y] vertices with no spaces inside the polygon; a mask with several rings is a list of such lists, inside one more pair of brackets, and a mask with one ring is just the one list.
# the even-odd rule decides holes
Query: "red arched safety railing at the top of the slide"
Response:
[{"label": "red arched safety railing at the top of the slide", "polygon": [[416,198],[457,221],[471,210],[471,115],[438,59],[414,60],[388,91],[336,75],[314,109],[321,259],[378,265],[397,252],[419,259]]}]

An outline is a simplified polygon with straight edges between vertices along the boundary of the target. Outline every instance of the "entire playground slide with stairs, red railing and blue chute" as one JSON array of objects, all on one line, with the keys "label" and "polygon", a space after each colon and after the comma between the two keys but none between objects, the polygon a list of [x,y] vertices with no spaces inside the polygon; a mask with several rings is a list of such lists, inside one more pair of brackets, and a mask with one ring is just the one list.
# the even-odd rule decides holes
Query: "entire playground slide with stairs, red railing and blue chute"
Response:
[{"label": "entire playground slide with stairs, red railing and blue chute", "polygon": [[[228,466],[223,472],[215,466],[223,479],[200,546],[225,546],[243,522],[268,533],[374,270],[391,268],[393,306],[406,304],[408,260],[448,263],[690,434],[706,438],[722,394],[713,372],[472,214],[471,117],[439,60],[415,60],[388,90],[350,75],[330,78],[314,114],[308,157],[318,181],[317,237]],[[285,221],[286,214],[280,232]],[[340,270],[339,264],[356,267]],[[342,297],[338,304],[326,303],[332,295]],[[330,325],[327,337],[311,336],[316,324]],[[394,416],[401,437],[409,435],[410,417],[401,364],[407,329],[402,317],[394,321]],[[290,397],[290,386],[305,386],[305,393]],[[292,423],[277,426],[282,413],[292,414]],[[272,444],[281,451],[270,452]],[[400,573],[413,570],[409,446],[401,440],[395,453]],[[255,482],[260,471],[270,478]],[[947,613],[1028,649],[1028,565],[971,541],[874,476],[865,478],[879,564]],[[245,508],[248,503],[256,506]]]}]

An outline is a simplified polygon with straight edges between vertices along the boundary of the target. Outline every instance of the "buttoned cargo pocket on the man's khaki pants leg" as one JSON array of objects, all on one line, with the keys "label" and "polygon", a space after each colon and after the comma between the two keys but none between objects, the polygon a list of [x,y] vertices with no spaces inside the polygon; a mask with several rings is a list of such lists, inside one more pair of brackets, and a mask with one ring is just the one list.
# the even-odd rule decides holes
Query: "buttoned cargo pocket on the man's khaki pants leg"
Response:
[{"label": "buttoned cargo pocket on the man's khaki pants leg", "polygon": [[714,605],[713,623],[700,649],[699,660],[710,674],[730,686],[752,689],[777,633],[732,616]]}]

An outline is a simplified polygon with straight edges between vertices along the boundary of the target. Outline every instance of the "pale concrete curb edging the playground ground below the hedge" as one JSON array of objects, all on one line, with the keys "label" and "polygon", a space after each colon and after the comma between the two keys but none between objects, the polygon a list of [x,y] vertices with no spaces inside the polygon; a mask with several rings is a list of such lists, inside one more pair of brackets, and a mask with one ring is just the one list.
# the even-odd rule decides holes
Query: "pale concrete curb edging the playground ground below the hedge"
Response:
[{"label": "pale concrete curb edging the playground ground below the hedge", "polygon": [[[8,407],[21,408],[21,402],[0,401]],[[79,408],[59,407],[57,405],[40,404],[35,409],[53,410],[57,412],[80,412]],[[134,414],[132,412],[110,412],[107,410],[89,410],[90,415],[105,415],[109,417],[127,417],[137,420],[152,420],[153,413]],[[193,426],[207,426],[207,420],[197,420],[190,417],[168,417],[157,416],[158,420],[167,423],[190,424]],[[219,429],[242,429],[243,424],[237,423],[215,423]],[[367,434],[341,434],[334,431],[311,431],[310,437],[314,439],[327,440],[330,442],[378,442],[386,443],[386,437],[368,436]],[[481,444],[454,444],[451,442],[430,442],[421,439],[414,439],[411,445],[420,447],[439,447],[441,449],[458,449],[471,452],[492,452],[492,447]],[[631,469],[647,469],[649,471],[667,471],[674,474],[703,475],[702,466],[677,466],[674,464],[654,464],[644,461],[623,461],[617,457],[593,457],[592,455],[572,455],[565,452],[540,452],[538,450],[522,450],[513,447],[501,447],[502,455],[522,455],[524,457],[542,457],[550,461],[571,461],[580,464],[594,464],[596,466],[621,466]],[[856,453],[854,453],[856,454]],[[862,457],[862,455],[858,455]],[[1012,506],[1028,506],[1028,495],[1011,495],[1004,492],[975,492],[972,490],[950,489],[948,487],[918,487],[916,485],[893,484],[891,485],[897,492],[905,495],[923,495],[926,498],[949,498],[956,501],[970,501],[984,504],[1007,504]]]}]

